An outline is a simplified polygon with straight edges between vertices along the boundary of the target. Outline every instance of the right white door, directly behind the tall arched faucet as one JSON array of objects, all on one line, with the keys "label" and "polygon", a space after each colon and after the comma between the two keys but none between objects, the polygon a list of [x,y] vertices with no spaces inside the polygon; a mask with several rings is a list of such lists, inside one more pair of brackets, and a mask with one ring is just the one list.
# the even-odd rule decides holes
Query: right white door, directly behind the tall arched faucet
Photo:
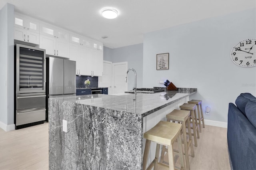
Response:
[{"label": "right white door, directly behind the tall arched faucet", "polygon": [[127,83],[125,82],[125,75],[126,71],[128,69],[128,63],[127,62],[121,62],[121,63],[113,63],[112,67],[112,75],[113,75],[113,90],[112,94],[118,94],[118,93],[124,93],[127,91]]}]

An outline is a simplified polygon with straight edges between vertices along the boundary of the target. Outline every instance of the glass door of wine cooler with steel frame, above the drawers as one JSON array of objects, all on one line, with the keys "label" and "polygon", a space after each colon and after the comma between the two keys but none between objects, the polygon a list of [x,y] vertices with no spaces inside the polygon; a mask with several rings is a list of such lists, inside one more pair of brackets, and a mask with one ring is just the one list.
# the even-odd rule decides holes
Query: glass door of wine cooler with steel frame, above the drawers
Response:
[{"label": "glass door of wine cooler with steel frame, above the drawers", "polygon": [[45,92],[45,50],[16,44],[16,93]]}]

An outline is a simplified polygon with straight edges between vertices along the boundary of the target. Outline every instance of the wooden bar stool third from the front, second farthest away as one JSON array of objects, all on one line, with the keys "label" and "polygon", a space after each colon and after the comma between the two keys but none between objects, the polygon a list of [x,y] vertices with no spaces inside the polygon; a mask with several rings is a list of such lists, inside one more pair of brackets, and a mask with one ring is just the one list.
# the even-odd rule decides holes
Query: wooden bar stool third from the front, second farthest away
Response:
[{"label": "wooden bar stool third from the front, second farthest away", "polygon": [[197,121],[195,121],[196,120],[196,113],[195,113],[196,105],[184,103],[183,105],[180,106],[180,109],[190,111],[190,118],[192,119],[192,127],[190,125],[190,128],[193,129],[192,136],[194,136],[194,144],[197,147],[196,134],[197,134],[197,138],[200,138],[200,136],[199,136],[198,124],[197,124]]}]

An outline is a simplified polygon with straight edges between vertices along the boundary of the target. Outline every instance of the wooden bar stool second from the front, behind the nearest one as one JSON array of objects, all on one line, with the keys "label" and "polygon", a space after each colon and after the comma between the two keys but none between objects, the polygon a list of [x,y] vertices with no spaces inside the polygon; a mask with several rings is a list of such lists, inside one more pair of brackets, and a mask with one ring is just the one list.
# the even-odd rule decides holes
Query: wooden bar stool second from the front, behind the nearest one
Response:
[{"label": "wooden bar stool second from the front, behind the nearest one", "polygon": [[[182,143],[184,144],[184,151],[185,151],[185,160],[186,160],[186,169],[190,169],[189,166],[189,158],[188,158],[188,150],[190,148],[191,151],[191,156],[194,157],[194,148],[193,148],[193,143],[192,143],[192,135],[191,135],[191,129],[188,128],[188,141],[187,141],[187,134],[186,134],[186,124],[189,127],[190,126],[190,111],[184,111],[184,110],[177,110],[174,109],[171,113],[166,115],[167,121],[177,121],[178,123],[180,122],[182,125],[182,134],[183,134],[183,141]],[[162,154],[161,154],[161,159],[160,162],[163,163],[164,160],[164,153],[167,152],[168,150],[165,149],[165,146],[162,148]]]}]

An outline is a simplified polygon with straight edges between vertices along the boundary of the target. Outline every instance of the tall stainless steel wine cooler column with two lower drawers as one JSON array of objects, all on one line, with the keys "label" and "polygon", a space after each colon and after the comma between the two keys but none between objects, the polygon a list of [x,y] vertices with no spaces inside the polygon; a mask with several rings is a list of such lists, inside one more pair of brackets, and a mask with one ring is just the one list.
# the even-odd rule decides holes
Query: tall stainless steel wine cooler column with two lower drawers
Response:
[{"label": "tall stainless steel wine cooler column with two lower drawers", "polygon": [[14,47],[15,129],[44,123],[46,114],[45,49]]}]

